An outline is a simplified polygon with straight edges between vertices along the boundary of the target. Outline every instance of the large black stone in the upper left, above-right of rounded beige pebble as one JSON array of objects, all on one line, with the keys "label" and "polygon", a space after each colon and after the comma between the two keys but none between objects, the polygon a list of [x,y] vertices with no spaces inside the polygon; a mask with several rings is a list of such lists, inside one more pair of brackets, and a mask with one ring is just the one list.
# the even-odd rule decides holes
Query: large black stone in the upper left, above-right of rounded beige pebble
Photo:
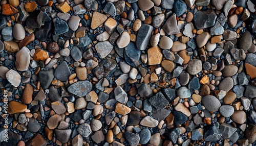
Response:
[{"label": "large black stone in the upper left, above-right of rounded beige pebble", "polygon": [[37,9],[31,13],[26,21],[26,26],[28,29],[36,29],[41,27],[42,17],[44,14],[41,10]]}]

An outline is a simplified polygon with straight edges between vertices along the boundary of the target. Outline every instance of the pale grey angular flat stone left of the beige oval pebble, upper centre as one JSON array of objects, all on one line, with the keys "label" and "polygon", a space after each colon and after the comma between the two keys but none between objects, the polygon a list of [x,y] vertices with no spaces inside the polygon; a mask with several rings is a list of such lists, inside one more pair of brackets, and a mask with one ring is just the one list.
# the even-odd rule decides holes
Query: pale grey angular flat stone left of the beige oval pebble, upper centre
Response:
[{"label": "pale grey angular flat stone left of the beige oval pebble, upper centre", "polygon": [[100,58],[108,56],[113,48],[113,45],[109,41],[98,42],[95,45],[95,49]]}]

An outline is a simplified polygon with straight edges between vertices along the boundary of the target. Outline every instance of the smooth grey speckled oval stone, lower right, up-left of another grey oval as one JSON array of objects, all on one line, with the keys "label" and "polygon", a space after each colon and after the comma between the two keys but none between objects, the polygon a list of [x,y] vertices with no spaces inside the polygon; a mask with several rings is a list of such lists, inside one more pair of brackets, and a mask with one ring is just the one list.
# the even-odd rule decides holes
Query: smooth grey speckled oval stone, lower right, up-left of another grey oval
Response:
[{"label": "smooth grey speckled oval stone, lower right, up-left of another grey oval", "polygon": [[212,95],[206,95],[202,99],[202,103],[208,111],[217,112],[221,107],[220,101]]}]

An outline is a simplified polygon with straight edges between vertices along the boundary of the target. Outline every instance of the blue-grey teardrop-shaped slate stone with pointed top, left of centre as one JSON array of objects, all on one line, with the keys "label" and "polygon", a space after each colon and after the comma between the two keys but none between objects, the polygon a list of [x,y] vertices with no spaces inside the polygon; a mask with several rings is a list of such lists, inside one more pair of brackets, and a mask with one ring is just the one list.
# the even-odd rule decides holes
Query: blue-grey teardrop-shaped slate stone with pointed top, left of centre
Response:
[{"label": "blue-grey teardrop-shaped slate stone with pointed top, left of centre", "polygon": [[63,61],[54,71],[54,77],[60,81],[67,81],[71,75],[67,62]]}]

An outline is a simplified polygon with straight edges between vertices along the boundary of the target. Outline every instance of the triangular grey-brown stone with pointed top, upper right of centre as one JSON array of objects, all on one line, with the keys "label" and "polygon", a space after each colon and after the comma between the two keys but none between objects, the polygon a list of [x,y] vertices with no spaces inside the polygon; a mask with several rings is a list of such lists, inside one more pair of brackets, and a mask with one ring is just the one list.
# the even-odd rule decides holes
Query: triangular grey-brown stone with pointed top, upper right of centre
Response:
[{"label": "triangular grey-brown stone with pointed top, upper right of centre", "polygon": [[163,28],[164,32],[168,35],[178,34],[179,28],[176,20],[176,14],[172,14],[164,23]]}]

